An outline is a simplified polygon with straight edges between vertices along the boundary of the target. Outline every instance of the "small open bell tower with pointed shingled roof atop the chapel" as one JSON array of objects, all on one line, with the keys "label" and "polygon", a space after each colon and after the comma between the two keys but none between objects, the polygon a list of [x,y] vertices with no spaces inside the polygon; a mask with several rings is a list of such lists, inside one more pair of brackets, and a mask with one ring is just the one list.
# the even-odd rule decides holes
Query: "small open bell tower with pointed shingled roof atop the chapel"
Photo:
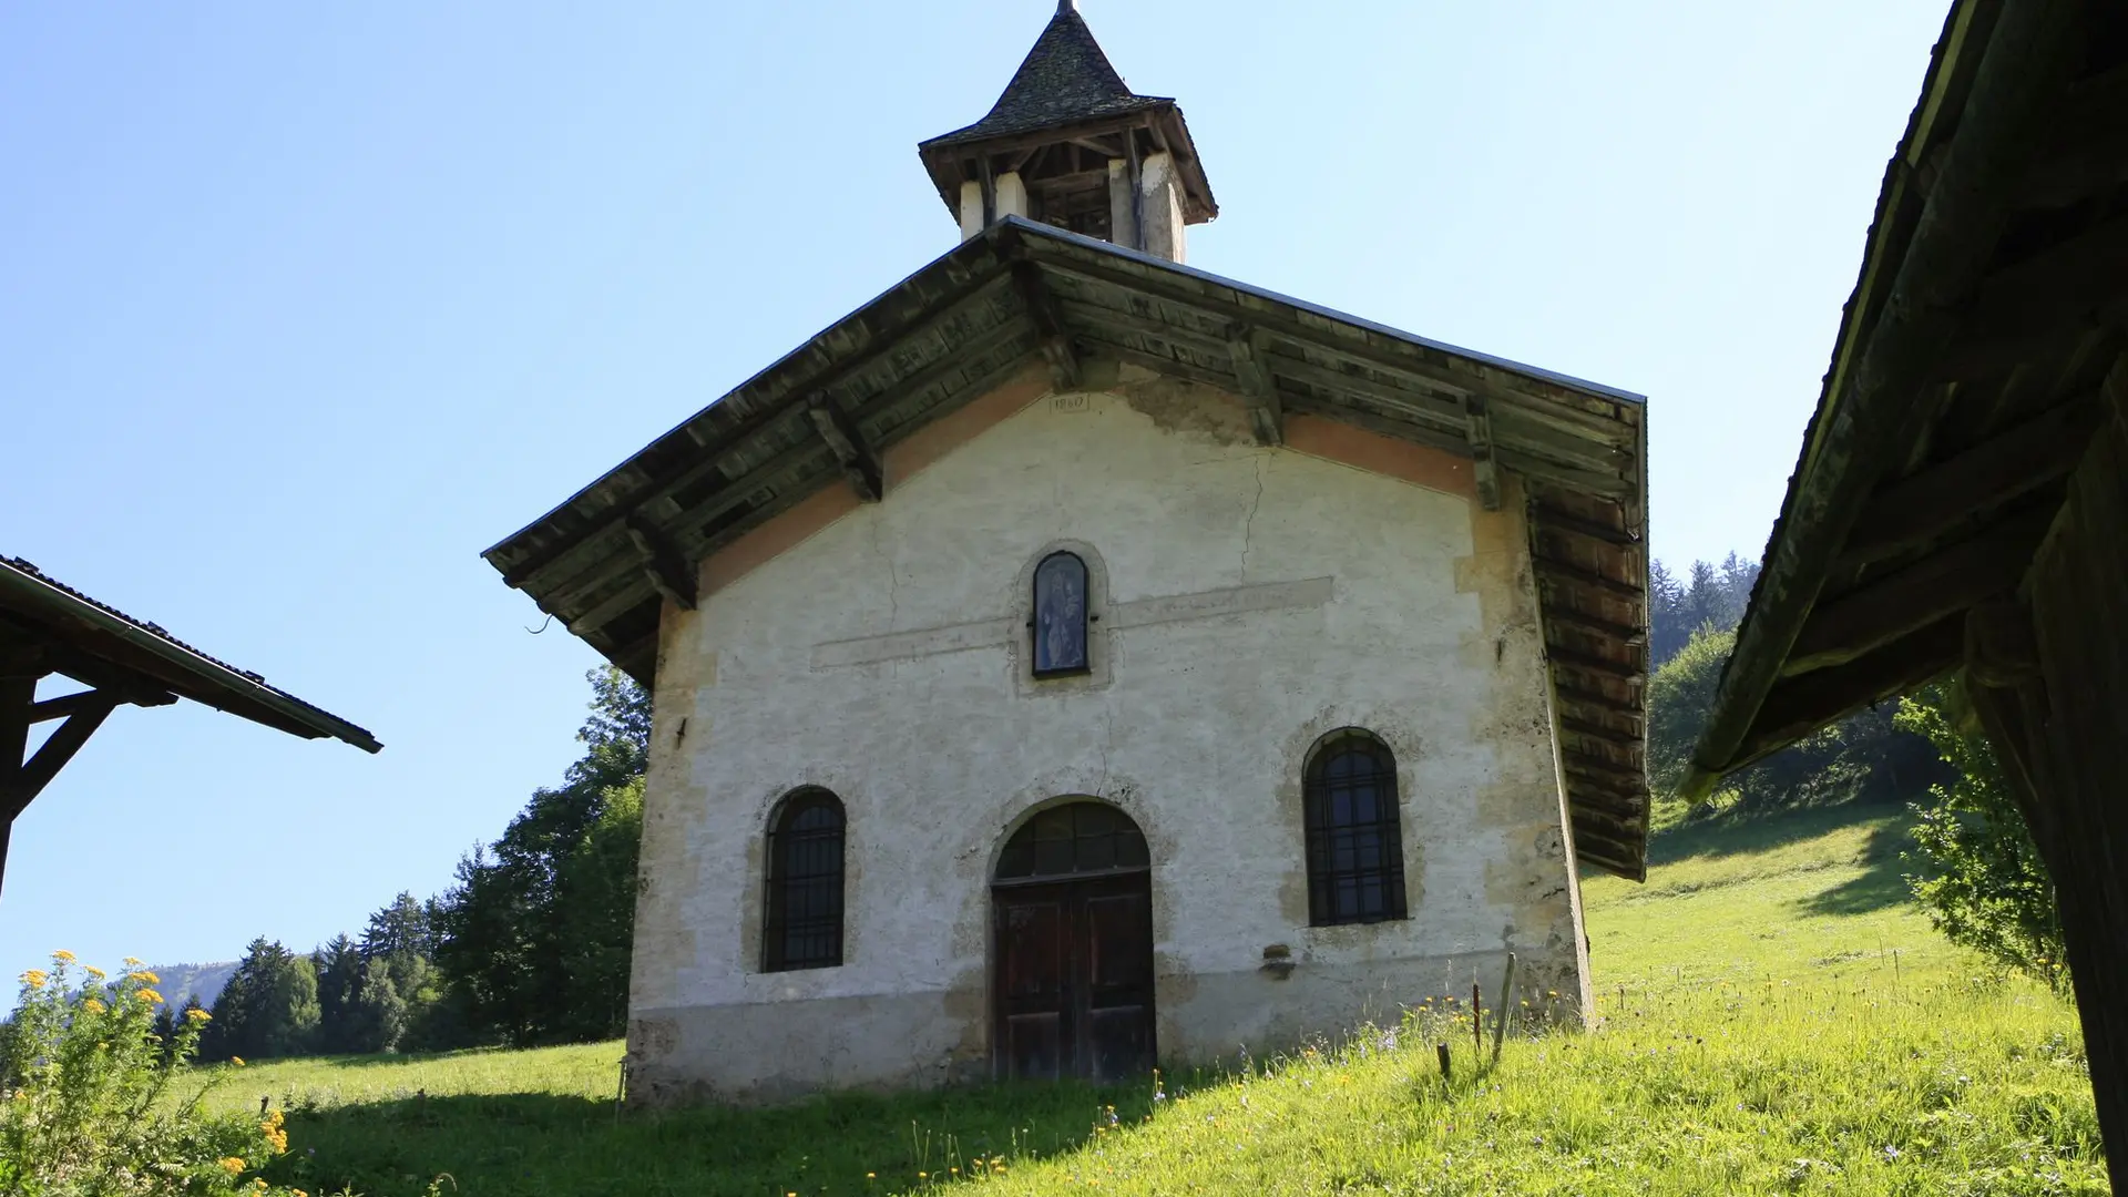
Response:
[{"label": "small open bell tower with pointed shingled roof atop the chapel", "polygon": [[1183,111],[1126,87],[1073,0],[990,115],[917,153],[962,241],[1019,215],[1181,262],[1183,228],[1219,215]]}]

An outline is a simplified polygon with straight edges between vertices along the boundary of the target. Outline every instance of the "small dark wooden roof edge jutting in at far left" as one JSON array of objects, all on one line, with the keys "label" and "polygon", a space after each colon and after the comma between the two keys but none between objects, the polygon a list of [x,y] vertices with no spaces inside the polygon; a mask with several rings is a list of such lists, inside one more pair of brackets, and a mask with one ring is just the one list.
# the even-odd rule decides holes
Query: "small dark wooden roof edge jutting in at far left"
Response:
[{"label": "small dark wooden roof edge jutting in at far left", "polygon": [[375,735],[332,711],[11,558],[0,558],[0,673],[60,673],[119,703],[192,699],[304,739],[330,737],[364,752],[383,750]]}]

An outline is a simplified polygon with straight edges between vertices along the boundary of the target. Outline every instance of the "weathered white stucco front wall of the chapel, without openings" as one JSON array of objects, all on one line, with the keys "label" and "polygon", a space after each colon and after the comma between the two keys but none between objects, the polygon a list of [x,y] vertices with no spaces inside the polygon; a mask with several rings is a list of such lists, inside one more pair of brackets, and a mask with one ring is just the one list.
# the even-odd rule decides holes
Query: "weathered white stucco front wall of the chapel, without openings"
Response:
[{"label": "weathered white stucco front wall of the chapel, without openings", "polygon": [[[1179,222],[1177,222],[1179,228]],[[819,496],[666,607],[630,1059],[636,1097],[990,1076],[990,878],[1096,797],[1151,848],[1158,1046],[1211,1061],[1496,993],[1585,1010],[1528,537],[1456,462],[1143,371],[1019,381]],[[955,424],[958,420],[958,424]],[[1028,577],[1092,564],[1094,669],[1036,682]],[[1300,771],[1396,754],[1409,918],[1309,927]],[[770,809],[847,811],[841,967],[762,971]],[[1266,969],[1283,948],[1290,971]]]}]

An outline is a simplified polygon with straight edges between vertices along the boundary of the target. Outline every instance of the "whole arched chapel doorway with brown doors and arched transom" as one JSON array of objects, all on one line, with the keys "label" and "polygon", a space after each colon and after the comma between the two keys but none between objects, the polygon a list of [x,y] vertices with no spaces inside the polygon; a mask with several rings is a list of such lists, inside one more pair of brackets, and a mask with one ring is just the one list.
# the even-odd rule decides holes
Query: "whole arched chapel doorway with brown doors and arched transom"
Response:
[{"label": "whole arched chapel doorway with brown doors and arched transom", "polygon": [[992,1005],[1000,1078],[1121,1080],[1153,1067],[1153,871],[1130,816],[1070,803],[1004,843]]}]

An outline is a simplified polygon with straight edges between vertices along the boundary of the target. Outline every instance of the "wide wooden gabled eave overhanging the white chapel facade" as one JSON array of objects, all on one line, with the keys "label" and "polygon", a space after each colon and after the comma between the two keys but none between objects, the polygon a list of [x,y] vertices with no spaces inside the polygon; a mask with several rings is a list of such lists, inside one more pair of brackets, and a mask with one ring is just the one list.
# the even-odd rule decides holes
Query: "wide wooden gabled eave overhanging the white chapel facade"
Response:
[{"label": "wide wooden gabled eave overhanging the white chapel facade", "polygon": [[[1575,852],[1645,875],[1647,428],[1641,396],[1426,341],[1009,217],[672,428],[483,556],[643,684],[672,577],[1049,360],[1119,360],[1519,475]],[[824,411],[832,415],[824,415]],[[832,420],[845,432],[824,434]],[[885,479],[892,490],[894,479]],[[1498,494],[1498,490],[1494,490]],[[664,575],[664,577],[660,577]]]}]

